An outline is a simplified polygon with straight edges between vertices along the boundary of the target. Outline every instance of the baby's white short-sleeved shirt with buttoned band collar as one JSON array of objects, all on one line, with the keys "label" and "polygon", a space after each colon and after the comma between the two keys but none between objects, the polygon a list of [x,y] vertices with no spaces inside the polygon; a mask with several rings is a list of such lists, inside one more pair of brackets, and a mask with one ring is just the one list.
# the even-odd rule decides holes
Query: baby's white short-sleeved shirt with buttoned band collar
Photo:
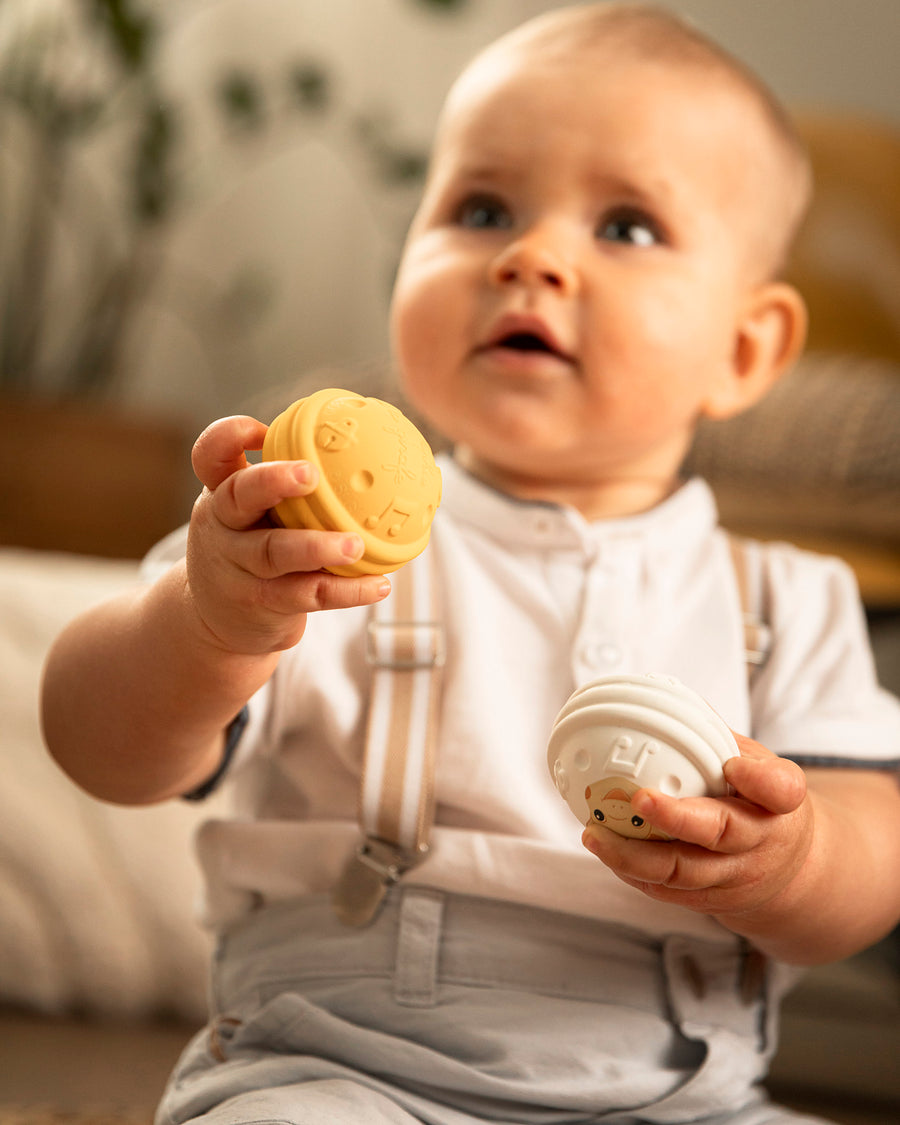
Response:
[{"label": "baby's white short-sleeved shirt with buttoned band collar", "polygon": [[[876,684],[852,573],[786,544],[763,548],[773,645],[750,696],[734,567],[704,483],[652,511],[588,523],[497,493],[450,459],[441,469],[429,548],[446,578],[448,649],[435,829],[429,858],[405,879],[728,937],[626,886],[584,850],[547,768],[554,718],[597,675],[665,673],[772,750],[886,764],[900,748],[900,704]],[[235,816],[207,824],[198,842],[210,925],[330,890],[357,846],[368,618],[310,615],[251,701],[226,782]]]}]

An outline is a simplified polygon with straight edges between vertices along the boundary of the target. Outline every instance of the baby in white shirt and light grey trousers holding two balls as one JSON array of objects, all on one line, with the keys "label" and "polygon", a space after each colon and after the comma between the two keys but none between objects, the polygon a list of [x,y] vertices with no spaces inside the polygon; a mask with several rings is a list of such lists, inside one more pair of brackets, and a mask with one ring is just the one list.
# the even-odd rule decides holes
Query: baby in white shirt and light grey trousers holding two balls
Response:
[{"label": "baby in white shirt and light grey trousers holding two balls", "polygon": [[[325,573],[358,537],[268,516],[315,468],[249,465],[266,426],[225,418],[195,448],[186,551],[60,638],[44,722],[75,781],[126,803],[234,791],[199,838],[213,1016],[160,1125],[801,1120],[759,1089],[773,1011],[789,965],[900,918],[900,706],[848,570],[784,544],[748,544],[772,637],[748,677],[728,540],[680,466],[700,417],[802,346],[780,268],[809,180],[772,96],[664,11],[587,4],[502,38],[450,92],[392,310],[406,395],[453,446],[425,555],[390,597]],[[348,925],[367,628],[425,572],[430,850],[370,839],[384,899]],[[728,798],[633,794],[673,840],[597,825],[583,847],[547,737],[618,670],[677,676],[741,755]]]}]

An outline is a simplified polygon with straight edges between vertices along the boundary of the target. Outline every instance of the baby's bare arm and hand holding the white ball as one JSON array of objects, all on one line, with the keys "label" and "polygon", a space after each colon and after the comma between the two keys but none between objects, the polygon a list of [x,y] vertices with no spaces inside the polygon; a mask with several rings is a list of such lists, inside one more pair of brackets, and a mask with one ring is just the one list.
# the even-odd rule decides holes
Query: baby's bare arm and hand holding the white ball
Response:
[{"label": "baby's bare arm and hand holding the white ball", "polygon": [[900,919],[900,785],[878,771],[811,770],[738,738],[736,795],[631,803],[675,840],[588,827],[585,845],[650,898],[716,916],[794,964],[847,956]]}]

